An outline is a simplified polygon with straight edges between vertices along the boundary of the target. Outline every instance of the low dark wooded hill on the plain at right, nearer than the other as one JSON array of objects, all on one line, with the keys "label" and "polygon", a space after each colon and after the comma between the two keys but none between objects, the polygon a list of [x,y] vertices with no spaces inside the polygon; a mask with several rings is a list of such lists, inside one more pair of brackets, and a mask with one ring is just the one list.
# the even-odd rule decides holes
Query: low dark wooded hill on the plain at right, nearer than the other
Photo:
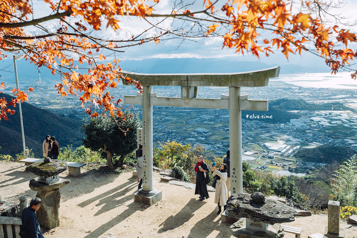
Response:
[{"label": "low dark wooded hill on the plain at right, nearer than the other", "polygon": [[311,149],[301,149],[295,153],[295,157],[303,158],[303,161],[318,163],[342,162],[342,159],[350,158],[356,151],[345,146],[323,145]]}]

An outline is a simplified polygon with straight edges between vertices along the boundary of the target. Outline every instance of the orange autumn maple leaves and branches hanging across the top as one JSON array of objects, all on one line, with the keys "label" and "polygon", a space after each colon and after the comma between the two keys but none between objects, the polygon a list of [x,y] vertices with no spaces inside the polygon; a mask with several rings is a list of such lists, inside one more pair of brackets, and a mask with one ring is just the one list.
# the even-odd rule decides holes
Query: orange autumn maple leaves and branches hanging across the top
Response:
[{"label": "orange autumn maple leaves and branches hanging across the top", "polygon": [[[68,93],[76,95],[85,112],[92,117],[97,117],[100,111],[102,115],[108,112],[122,116],[121,100],[115,100],[108,92],[109,88],[117,87],[119,80],[131,82],[141,90],[140,82],[123,74],[120,61],[115,56],[115,52],[129,46],[151,41],[158,44],[170,37],[221,37],[223,47],[240,54],[249,52],[257,57],[260,54],[269,56],[279,50],[288,59],[289,54],[309,51],[323,57],[332,73],[346,67],[357,55],[350,49],[351,42],[356,41],[354,33],[337,25],[326,26],[317,17],[317,11],[326,10],[322,9],[319,1],[301,0],[300,5],[306,11],[296,14],[292,13],[293,4],[296,5],[292,0],[203,0],[201,10],[175,5],[169,14],[154,10],[159,0],[44,2],[51,10],[34,18],[32,1],[0,0],[0,60],[24,54],[26,60],[38,67],[60,74],[61,81],[55,85],[58,93],[62,96]],[[93,32],[97,30],[120,30],[119,23],[123,17],[140,17],[149,22],[157,34],[147,35],[144,30],[141,34],[119,40],[94,36]],[[170,29],[162,29],[153,23],[168,18],[186,24],[177,28],[171,24]],[[48,22],[51,25],[46,24]],[[28,29],[36,30],[38,34],[29,35]],[[268,32],[266,35],[270,37],[262,39],[260,32]],[[107,59],[108,56],[110,58]],[[356,75],[357,71],[352,77],[356,78]],[[1,87],[5,88],[4,83],[0,84],[0,90]],[[8,107],[27,100],[26,93],[32,90],[29,88],[28,92],[22,92],[14,89],[17,98],[11,102],[0,97],[0,120],[7,120],[8,113],[14,112]]]}]

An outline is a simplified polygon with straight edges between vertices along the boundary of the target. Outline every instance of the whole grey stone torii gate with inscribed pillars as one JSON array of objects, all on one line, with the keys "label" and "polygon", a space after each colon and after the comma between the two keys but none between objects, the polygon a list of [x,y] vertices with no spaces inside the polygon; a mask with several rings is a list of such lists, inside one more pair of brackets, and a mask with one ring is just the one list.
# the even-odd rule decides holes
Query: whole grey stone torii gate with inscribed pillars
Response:
[{"label": "whole grey stone torii gate with inscribed pillars", "polygon": [[[267,111],[267,100],[249,100],[241,95],[241,87],[263,87],[270,78],[278,77],[280,67],[265,70],[223,74],[139,74],[126,72],[139,81],[142,94],[124,96],[125,104],[142,105],[143,171],[142,189],[134,201],[150,206],[162,198],[162,192],[153,187],[152,181],[152,106],[217,108],[229,110],[231,192],[243,192],[242,181],[242,120],[241,110]],[[123,72],[125,74],[125,72]],[[124,85],[129,85],[123,80]],[[152,86],[181,86],[181,97],[159,97]],[[229,87],[229,95],[221,98],[197,98],[198,86]]]}]

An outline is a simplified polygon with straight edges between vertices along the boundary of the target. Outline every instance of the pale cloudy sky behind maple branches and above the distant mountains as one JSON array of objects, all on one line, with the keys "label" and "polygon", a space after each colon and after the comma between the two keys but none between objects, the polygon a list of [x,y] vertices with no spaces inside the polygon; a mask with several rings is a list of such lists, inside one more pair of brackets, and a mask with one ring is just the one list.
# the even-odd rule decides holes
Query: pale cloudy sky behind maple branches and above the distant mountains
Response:
[{"label": "pale cloudy sky behind maple branches and above the distant mountains", "polygon": [[[337,1],[337,0],[333,0]],[[159,4],[155,6],[156,13],[169,13],[172,9],[173,0],[160,0]],[[184,1],[188,2],[188,1]],[[219,1],[221,5],[225,1]],[[334,14],[342,14],[348,21],[352,23],[357,23],[357,17],[355,14],[355,9],[357,8],[357,1],[355,0],[345,0],[346,5],[341,9],[332,9],[331,11]],[[43,13],[46,11],[44,7],[44,3],[42,1],[34,1],[34,16],[41,17]],[[203,0],[197,0],[196,3],[192,6],[189,6],[188,9],[191,11],[199,10],[202,8]],[[124,17],[121,18],[122,22],[120,23],[121,29],[117,32],[114,32],[111,29],[103,29],[99,32],[95,32],[96,36],[105,37],[105,38],[113,38],[113,39],[128,39],[131,35],[136,35],[139,32],[142,32],[145,28],[149,26],[143,19],[133,18],[130,19]],[[163,28],[170,27],[172,23],[172,19],[164,21],[160,26]],[[103,24],[104,26],[106,24]],[[47,28],[51,28],[51,23],[45,23],[44,26]],[[105,28],[105,27],[103,27]],[[350,29],[351,32],[357,32],[357,27],[346,27]],[[34,35],[37,30],[34,28],[28,28],[28,31]],[[155,35],[155,31],[149,31],[148,35]],[[266,32],[263,34],[270,34],[270,32]],[[261,39],[265,39],[264,35]],[[198,44],[192,41],[182,41],[182,40],[167,40],[161,41],[160,44],[156,45],[154,42],[129,47],[125,50],[124,53],[117,54],[117,58],[128,60],[141,60],[141,59],[151,59],[151,58],[223,58],[230,57],[231,59],[235,59],[237,61],[257,61],[258,58],[252,56],[250,54],[238,54],[235,53],[234,49],[222,49],[222,39],[220,38],[210,38],[206,39],[204,44]],[[355,47],[356,48],[356,47]],[[355,49],[356,50],[356,49]],[[260,61],[267,64],[297,64],[302,66],[311,66],[313,64],[324,64],[324,60],[320,57],[314,56],[312,54],[303,52],[302,56],[300,55],[290,55],[289,61],[285,58],[285,56],[278,50],[276,54],[271,54],[269,57],[266,57],[264,54],[261,54]]]}]

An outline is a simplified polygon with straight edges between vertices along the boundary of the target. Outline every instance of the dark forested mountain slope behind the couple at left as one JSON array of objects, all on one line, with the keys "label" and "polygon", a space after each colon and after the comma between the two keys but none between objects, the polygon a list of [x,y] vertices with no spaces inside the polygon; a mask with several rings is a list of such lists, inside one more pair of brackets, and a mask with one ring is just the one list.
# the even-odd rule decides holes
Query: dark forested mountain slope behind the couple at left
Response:
[{"label": "dark forested mountain slope behind the couple at left", "polygon": [[[1,97],[11,101],[8,94],[1,93]],[[16,158],[16,154],[23,151],[19,106],[12,107],[16,112],[9,116],[9,121],[1,120],[0,146],[1,154]],[[53,112],[38,108],[30,103],[22,103],[22,120],[26,147],[32,148],[36,157],[42,158],[42,142],[46,135],[55,136],[60,147],[82,145],[84,133],[81,131],[82,122],[61,117]]]}]

